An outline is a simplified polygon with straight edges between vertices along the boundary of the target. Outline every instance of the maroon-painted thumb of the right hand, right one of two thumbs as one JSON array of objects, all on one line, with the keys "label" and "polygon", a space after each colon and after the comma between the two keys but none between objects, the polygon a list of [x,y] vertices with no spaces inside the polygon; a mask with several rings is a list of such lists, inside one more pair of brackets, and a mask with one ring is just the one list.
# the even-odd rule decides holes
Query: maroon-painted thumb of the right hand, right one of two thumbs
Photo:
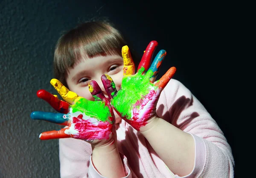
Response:
[{"label": "maroon-painted thumb of the right hand, right one of two thumbs", "polygon": [[116,90],[116,85],[111,79],[109,75],[102,75],[101,76],[102,84],[108,94],[108,98],[112,99],[114,96],[116,96],[117,90]]}]

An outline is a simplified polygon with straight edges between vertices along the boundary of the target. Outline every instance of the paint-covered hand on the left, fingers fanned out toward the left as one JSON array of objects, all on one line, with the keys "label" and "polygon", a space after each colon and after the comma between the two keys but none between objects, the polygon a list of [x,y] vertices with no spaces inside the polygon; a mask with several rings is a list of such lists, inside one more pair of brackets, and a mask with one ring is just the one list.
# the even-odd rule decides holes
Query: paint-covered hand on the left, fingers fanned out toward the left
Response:
[{"label": "paint-covered hand on the left, fingers fanned out toward the left", "polygon": [[89,83],[89,90],[95,101],[78,96],[57,79],[52,79],[50,83],[65,101],[59,100],[57,96],[46,90],[38,90],[37,96],[47,101],[60,113],[35,111],[31,113],[31,118],[66,125],[67,127],[61,130],[43,132],[39,136],[41,140],[73,137],[91,144],[104,144],[114,139],[115,117],[113,109],[95,81]]}]

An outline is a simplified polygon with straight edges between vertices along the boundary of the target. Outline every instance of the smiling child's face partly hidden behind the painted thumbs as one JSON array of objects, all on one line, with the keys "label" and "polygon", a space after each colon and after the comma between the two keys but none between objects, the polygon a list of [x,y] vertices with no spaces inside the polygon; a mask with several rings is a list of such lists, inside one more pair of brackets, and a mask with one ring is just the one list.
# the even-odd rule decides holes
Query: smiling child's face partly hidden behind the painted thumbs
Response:
[{"label": "smiling child's face partly hidden behind the painted thumbs", "polygon": [[[99,87],[102,89],[103,94],[108,98],[102,81],[101,76],[103,74],[108,74],[113,79],[113,82],[116,84],[116,89],[119,90],[122,77],[123,77],[123,58],[119,55],[106,55],[106,56],[97,56],[91,59],[81,59],[74,68],[70,68],[66,81],[69,89],[81,97],[94,101],[93,96],[91,95],[88,83],[91,80],[95,80]],[[121,121],[121,118],[116,114],[116,124]]]}]

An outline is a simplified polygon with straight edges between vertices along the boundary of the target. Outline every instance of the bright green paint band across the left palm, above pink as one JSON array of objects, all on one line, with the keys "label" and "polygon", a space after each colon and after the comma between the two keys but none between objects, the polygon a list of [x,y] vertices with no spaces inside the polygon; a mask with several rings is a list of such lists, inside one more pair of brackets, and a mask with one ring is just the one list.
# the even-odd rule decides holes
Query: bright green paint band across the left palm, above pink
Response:
[{"label": "bright green paint band across the left palm, above pink", "polygon": [[85,115],[96,118],[100,121],[106,121],[111,117],[110,110],[105,102],[90,101],[84,98],[79,99],[74,105],[71,105],[73,113],[80,111]]}]

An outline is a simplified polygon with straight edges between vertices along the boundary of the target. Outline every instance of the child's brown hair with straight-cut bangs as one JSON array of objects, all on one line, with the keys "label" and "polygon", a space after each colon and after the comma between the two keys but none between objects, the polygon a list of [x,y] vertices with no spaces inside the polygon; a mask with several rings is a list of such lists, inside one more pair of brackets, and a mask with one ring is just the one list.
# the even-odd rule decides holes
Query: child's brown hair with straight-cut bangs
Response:
[{"label": "child's brown hair with straight-cut bangs", "polygon": [[106,21],[88,21],[61,35],[55,46],[54,73],[66,87],[65,76],[83,57],[118,54],[127,45],[122,34]]}]

